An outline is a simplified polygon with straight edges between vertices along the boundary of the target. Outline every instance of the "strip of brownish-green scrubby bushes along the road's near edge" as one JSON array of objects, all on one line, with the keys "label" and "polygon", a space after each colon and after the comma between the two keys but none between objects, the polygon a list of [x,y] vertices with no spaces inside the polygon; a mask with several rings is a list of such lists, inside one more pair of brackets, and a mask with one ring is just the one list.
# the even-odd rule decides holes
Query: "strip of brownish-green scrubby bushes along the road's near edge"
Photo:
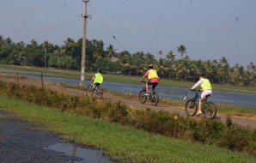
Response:
[{"label": "strip of brownish-green scrubby bushes along the road's near edge", "polygon": [[155,112],[150,109],[137,110],[121,102],[102,102],[15,83],[0,82],[0,93],[41,106],[55,107],[62,111],[131,125],[163,136],[216,144],[231,150],[256,154],[256,130],[233,124],[230,118],[227,118],[226,124],[202,118],[183,118],[179,113]]}]

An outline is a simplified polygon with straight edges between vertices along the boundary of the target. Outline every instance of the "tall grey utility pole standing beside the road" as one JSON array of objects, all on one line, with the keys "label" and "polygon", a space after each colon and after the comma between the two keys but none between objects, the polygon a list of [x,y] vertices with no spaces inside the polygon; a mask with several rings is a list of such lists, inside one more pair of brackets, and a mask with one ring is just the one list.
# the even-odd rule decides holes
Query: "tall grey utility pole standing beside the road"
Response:
[{"label": "tall grey utility pole standing beside the road", "polygon": [[84,69],[85,69],[85,54],[86,54],[86,26],[87,26],[87,3],[89,0],[82,0],[84,3],[84,14],[83,14],[83,36],[82,36],[82,61],[81,61],[81,79],[80,87],[84,86]]}]

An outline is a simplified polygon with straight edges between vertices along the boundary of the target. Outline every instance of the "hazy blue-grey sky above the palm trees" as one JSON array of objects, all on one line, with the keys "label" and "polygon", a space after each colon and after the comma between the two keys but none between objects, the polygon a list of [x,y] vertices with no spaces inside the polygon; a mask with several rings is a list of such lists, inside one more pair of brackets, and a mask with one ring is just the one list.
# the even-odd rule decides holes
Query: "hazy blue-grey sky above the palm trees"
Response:
[{"label": "hazy blue-grey sky above the palm trees", "polygon": [[[186,46],[195,60],[256,63],[255,0],[90,0],[87,39],[117,52],[150,53],[159,59]],[[39,44],[82,38],[82,0],[0,0],[0,35]]]}]

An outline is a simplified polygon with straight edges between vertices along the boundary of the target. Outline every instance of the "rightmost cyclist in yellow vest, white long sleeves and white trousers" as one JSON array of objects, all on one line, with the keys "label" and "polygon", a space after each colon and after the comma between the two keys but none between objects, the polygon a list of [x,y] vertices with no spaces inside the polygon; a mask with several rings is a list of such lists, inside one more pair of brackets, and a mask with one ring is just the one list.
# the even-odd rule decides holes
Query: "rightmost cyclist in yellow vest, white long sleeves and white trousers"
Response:
[{"label": "rightmost cyclist in yellow vest, white long sleeves and white trousers", "polygon": [[199,108],[197,112],[198,115],[202,114],[202,110],[201,110],[202,102],[205,100],[207,95],[212,94],[210,81],[205,78],[204,73],[199,74],[199,81],[191,89],[193,90],[197,88],[199,85],[202,88],[202,94],[199,100]]}]

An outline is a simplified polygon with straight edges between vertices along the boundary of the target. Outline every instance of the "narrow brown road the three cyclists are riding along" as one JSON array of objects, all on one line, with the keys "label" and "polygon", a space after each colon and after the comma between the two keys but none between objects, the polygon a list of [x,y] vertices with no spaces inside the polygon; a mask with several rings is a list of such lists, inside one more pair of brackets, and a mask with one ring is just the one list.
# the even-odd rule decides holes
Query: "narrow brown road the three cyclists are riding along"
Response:
[{"label": "narrow brown road the three cyclists are riding along", "polygon": [[[14,82],[19,84],[24,84],[24,85],[34,85],[37,87],[42,87],[41,82],[38,81],[31,81],[31,80],[19,80],[17,81],[14,78],[5,78],[3,76],[0,76],[0,81],[3,82]],[[43,84],[44,88],[56,90],[56,91],[61,91],[64,94],[71,94],[71,95],[84,95],[84,91],[76,89],[76,88],[64,88],[60,87],[57,84],[52,84],[51,82],[44,82]],[[151,106],[149,103],[141,104],[138,100],[131,100],[131,99],[125,99],[124,97],[116,96],[116,95],[109,95],[109,94],[104,94],[104,100],[111,100],[111,101],[121,101],[121,103],[131,106],[133,108],[139,108],[139,109],[147,109],[150,108],[152,110],[157,110],[157,111],[167,111],[167,112],[179,112],[180,115],[186,116],[185,111],[183,108],[176,108],[173,106],[164,106],[161,104],[161,101],[158,106]],[[217,113],[216,118],[214,120],[221,121],[222,123],[226,122],[226,115],[222,115]],[[239,124],[242,126],[248,126],[250,128],[256,129],[256,120],[254,119],[249,119],[249,118],[240,118],[240,117],[230,117],[232,121],[235,124]]]}]

